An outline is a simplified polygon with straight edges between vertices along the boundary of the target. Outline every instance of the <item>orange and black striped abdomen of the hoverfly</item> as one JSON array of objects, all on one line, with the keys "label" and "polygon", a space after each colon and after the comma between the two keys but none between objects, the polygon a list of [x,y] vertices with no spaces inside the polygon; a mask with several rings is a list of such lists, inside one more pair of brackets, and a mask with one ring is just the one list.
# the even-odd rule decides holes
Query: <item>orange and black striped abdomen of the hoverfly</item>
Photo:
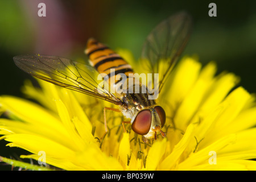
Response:
[{"label": "orange and black striped abdomen of the hoverfly", "polygon": [[[89,57],[90,64],[96,68],[99,73],[106,73],[109,76],[109,79],[111,73],[110,70],[112,70],[112,72],[114,70],[115,76],[118,73],[124,73],[129,77],[129,73],[133,73],[131,65],[123,60],[121,56],[93,38],[88,40],[85,53]],[[118,81],[119,78],[115,79],[115,83]]]}]

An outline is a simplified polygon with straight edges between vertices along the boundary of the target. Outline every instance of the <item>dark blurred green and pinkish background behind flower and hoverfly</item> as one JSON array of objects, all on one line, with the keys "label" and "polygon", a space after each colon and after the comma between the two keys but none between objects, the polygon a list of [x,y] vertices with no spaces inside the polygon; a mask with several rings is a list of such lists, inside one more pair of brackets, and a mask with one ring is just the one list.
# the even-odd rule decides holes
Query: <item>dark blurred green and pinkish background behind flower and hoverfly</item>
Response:
[{"label": "dark blurred green and pinkish background behind flower and hoverfly", "polygon": [[[211,2],[217,5],[217,17],[208,15]],[[46,17],[38,16],[39,3],[46,4]],[[15,66],[15,55],[40,53],[87,59],[86,40],[94,37],[113,49],[130,49],[138,59],[152,28],[181,10],[188,11],[194,22],[183,55],[196,54],[204,65],[216,61],[218,72],[236,73],[241,77],[240,85],[255,93],[255,8],[253,0],[0,1],[0,95],[22,97],[20,87],[26,78],[31,79]],[[0,155],[10,157],[14,151],[5,144],[0,141]]]}]

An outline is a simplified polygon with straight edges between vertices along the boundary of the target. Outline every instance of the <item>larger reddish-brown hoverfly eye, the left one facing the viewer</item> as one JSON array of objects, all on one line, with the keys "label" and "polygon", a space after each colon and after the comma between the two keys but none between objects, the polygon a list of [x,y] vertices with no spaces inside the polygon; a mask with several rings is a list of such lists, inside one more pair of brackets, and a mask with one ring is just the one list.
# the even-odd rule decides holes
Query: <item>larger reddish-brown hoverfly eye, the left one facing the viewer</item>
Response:
[{"label": "larger reddish-brown hoverfly eye, the left one facing the viewer", "polygon": [[146,135],[151,127],[151,111],[142,110],[135,117],[131,129],[139,135]]}]

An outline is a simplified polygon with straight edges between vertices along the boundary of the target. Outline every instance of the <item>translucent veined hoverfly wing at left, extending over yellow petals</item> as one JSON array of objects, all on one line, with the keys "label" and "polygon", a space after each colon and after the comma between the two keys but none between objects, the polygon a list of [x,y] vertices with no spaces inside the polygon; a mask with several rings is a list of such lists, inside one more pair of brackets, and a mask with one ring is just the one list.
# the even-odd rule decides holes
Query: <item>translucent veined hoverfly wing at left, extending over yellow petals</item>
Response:
[{"label": "translucent veined hoverfly wing at left, extending over yellow petals", "polygon": [[52,84],[119,105],[120,101],[101,85],[100,73],[89,65],[59,56],[19,55],[14,63],[24,72]]}]

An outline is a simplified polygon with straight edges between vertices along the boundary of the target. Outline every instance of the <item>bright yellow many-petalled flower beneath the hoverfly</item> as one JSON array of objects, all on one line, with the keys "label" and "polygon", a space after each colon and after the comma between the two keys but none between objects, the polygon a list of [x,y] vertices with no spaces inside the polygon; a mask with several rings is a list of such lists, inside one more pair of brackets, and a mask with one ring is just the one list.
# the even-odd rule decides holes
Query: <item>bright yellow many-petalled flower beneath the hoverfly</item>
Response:
[{"label": "bright yellow many-petalled flower beneath the hoverfly", "polygon": [[[129,53],[121,54],[131,60]],[[232,73],[215,73],[212,62],[201,68],[193,57],[180,60],[159,96],[167,113],[166,137],[148,144],[129,124],[124,130],[122,114],[113,111],[106,114],[104,135],[103,108],[117,106],[41,80],[41,89],[30,81],[23,87],[41,105],[0,97],[0,109],[9,116],[0,118],[0,139],[31,152],[20,158],[40,162],[44,156],[47,164],[65,170],[255,170],[250,160],[256,158],[255,98],[242,87],[234,89],[239,78]]]}]

